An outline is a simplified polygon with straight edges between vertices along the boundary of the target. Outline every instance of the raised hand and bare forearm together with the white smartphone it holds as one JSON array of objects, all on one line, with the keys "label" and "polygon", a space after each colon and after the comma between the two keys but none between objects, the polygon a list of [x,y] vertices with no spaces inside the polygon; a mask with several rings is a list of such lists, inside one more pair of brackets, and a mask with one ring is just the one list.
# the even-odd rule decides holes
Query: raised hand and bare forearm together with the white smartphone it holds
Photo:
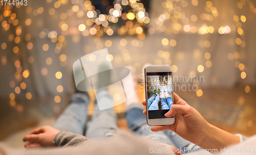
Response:
[{"label": "raised hand and bare forearm together with the white smartphone it holds", "polygon": [[[208,123],[173,89],[168,89],[173,87],[172,79],[172,68],[168,65],[145,67],[146,100],[142,101],[142,105],[146,106],[146,110],[143,114],[147,116],[148,125],[155,125],[151,128],[153,132],[171,130],[204,149],[220,149],[240,142],[239,137]],[[167,89],[166,93],[161,90],[163,87]],[[167,101],[168,96],[173,99],[172,105]]]}]

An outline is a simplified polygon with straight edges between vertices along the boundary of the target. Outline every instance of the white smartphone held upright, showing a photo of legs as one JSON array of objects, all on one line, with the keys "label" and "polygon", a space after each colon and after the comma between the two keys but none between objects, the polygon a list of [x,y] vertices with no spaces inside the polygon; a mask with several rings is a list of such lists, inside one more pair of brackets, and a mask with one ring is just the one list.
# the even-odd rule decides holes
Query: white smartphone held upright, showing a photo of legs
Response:
[{"label": "white smartphone held upright, showing a photo of legs", "polygon": [[146,66],[144,75],[147,124],[150,126],[173,124],[174,116],[170,118],[164,116],[174,104],[172,66]]}]

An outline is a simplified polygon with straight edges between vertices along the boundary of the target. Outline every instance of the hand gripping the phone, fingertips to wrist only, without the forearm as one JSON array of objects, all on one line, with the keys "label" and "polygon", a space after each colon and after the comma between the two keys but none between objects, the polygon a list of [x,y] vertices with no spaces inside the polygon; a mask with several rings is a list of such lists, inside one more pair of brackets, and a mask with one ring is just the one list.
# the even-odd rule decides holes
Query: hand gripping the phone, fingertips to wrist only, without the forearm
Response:
[{"label": "hand gripping the phone, fingertips to wrist only, without the forearm", "polygon": [[[146,106],[146,100],[142,101],[142,105]],[[144,110],[143,114],[146,115],[147,111]],[[170,130],[199,146],[211,126],[196,109],[189,106],[176,93],[174,93],[174,105],[165,116],[167,118],[175,116],[175,122],[170,125],[153,126],[151,128],[153,132]]]}]

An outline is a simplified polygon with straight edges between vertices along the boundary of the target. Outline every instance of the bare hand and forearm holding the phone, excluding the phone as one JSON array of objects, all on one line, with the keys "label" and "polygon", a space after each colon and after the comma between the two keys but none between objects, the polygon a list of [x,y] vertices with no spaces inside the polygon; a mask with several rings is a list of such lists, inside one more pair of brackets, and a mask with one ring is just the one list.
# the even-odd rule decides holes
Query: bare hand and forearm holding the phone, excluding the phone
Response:
[{"label": "bare hand and forearm holding the phone, excluding the phone", "polygon": [[[146,100],[142,101],[146,106]],[[147,115],[147,111],[143,111]],[[204,149],[220,149],[240,142],[240,138],[208,123],[202,115],[186,101],[174,93],[174,105],[166,117],[175,115],[175,122],[171,125],[153,126],[153,132],[173,131],[185,140],[188,140]]]}]

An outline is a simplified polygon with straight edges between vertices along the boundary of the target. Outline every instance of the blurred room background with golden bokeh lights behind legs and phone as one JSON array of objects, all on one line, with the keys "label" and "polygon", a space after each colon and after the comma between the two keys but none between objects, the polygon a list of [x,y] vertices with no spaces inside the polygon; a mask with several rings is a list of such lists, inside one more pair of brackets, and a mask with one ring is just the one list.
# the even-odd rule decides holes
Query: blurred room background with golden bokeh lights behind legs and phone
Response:
[{"label": "blurred room background with golden bokeh lights behind legs and phone", "polygon": [[[175,92],[207,121],[231,133],[256,134],[256,2],[27,4],[0,7],[0,140],[19,147],[32,128],[52,124],[74,92],[73,63],[106,47],[114,67],[137,69],[140,99],[143,65],[172,65],[177,85],[198,86]],[[181,76],[204,76],[204,81],[181,82]],[[116,110],[125,127],[123,104]]]}]

